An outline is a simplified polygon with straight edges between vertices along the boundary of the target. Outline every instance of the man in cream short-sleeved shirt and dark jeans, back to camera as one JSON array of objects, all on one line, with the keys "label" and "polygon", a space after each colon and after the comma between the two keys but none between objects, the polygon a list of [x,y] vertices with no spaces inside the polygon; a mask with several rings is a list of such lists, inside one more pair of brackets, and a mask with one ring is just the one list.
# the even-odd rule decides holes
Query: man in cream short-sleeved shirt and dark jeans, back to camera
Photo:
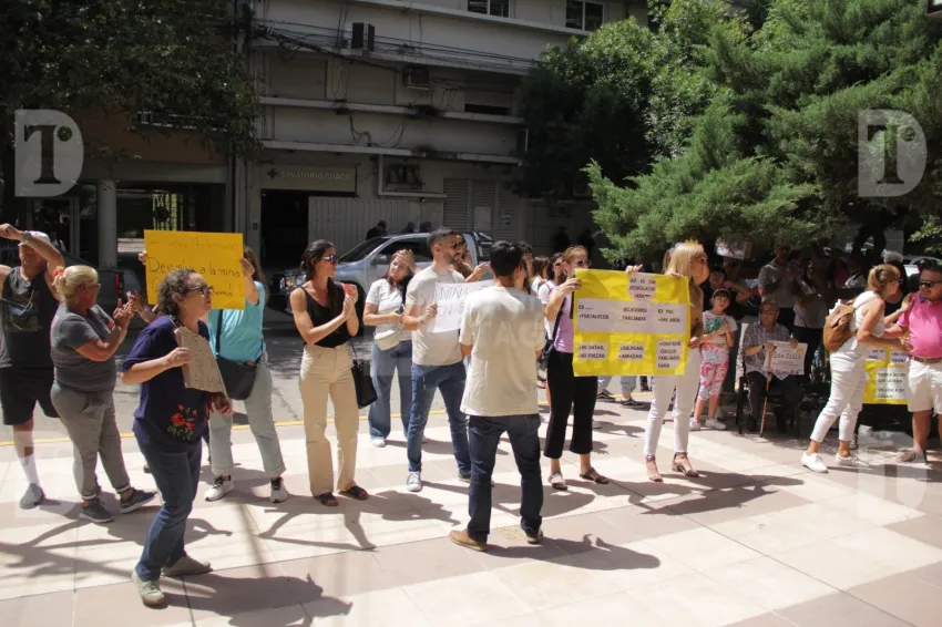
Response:
[{"label": "man in cream short-sleeved shirt and dark jeans, back to camera", "polygon": [[464,531],[451,541],[488,549],[491,475],[501,435],[506,432],[521,477],[520,526],[529,544],[539,544],[543,518],[540,473],[540,414],[536,407],[536,356],[545,342],[543,304],[516,289],[526,265],[519,244],[491,247],[494,286],[471,295],[461,319],[461,352],[471,356],[461,410],[471,418],[471,489]]}]

